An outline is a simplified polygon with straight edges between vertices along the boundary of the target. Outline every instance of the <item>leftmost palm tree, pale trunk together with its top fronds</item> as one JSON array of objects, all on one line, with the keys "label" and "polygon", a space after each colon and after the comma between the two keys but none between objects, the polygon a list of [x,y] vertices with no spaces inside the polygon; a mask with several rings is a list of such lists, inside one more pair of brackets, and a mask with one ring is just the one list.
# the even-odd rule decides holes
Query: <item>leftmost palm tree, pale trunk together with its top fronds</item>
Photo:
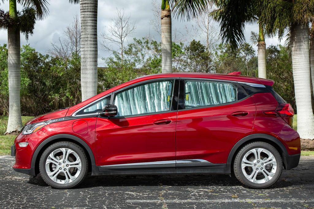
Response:
[{"label": "leftmost palm tree, pale trunk together with its top fronds", "polygon": [[[2,0],[2,3],[4,0]],[[16,0],[9,0],[9,16],[12,21],[8,29],[8,88],[9,88],[9,119],[6,133],[19,132],[22,128],[20,107],[20,30],[28,34],[33,33],[36,19],[43,19],[48,13],[46,0],[18,0],[24,8],[32,8],[25,13],[29,17],[28,22],[19,19],[16,9]],[[36,16],[35,16],[35,13]],[[4,26],[3,26],[4,27]]]}]

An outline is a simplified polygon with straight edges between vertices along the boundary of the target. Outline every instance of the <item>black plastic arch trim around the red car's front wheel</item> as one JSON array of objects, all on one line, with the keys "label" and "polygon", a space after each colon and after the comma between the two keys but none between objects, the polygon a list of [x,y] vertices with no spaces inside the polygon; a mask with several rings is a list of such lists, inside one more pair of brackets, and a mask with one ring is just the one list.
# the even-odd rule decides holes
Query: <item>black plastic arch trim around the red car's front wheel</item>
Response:
[{"label": "black plastic arch trim around the red car's front wheel", "polygon": [[39,173],[39,169],[37,169],[36,167],[36,162],[39,162],[39,154],[42,153],[44,151],[44,148],[46,147],[47,144],[51,144],[51,142],[58,140],[58,139],[70,139],[71,141],[77,142],[78,144],[82,145],[83,148],[87,151],[86,154],[88,154],[88,159],[91,162],[91,168],[92,168],[92,175],[98,175],[99,174],[99,170],[98,167],[96,166],[96,162],[95,162],[95,157],[94,154],[92,152],[92,150],[90,149],[90,147],[86,144],[86,142],[84,142],[84,140],[82,140],[81,138],[78,138],[76,136],[73,136],[71,134],[57,134],[57,135],[53,135],[49,138],[46,138],[43,142],[41,142],[41,144],[39,144],[39,146],[36,148],[33,157],[32,157],[32,161],[30,164],[31,169],[28,171],[28,175],[37,175]]}]

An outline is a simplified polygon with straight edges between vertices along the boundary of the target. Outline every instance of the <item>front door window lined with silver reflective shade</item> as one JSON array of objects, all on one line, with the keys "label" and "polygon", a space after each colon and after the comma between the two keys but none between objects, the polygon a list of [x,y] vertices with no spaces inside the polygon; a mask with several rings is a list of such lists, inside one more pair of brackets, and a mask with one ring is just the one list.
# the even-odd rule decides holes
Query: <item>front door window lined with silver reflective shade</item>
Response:
[{"label": "front door window lined with silver reflective shade", "polygon": [[174,81],[157,81],[117,93],[113,104],[116,117],[169,111]]}]

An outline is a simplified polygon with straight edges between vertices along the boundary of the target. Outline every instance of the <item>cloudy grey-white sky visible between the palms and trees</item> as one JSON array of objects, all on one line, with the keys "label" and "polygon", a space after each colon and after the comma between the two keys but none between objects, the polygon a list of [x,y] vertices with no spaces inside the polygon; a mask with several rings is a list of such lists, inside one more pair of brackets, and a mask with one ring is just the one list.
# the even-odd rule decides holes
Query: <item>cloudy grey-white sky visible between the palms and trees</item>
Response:
[{"label": "cloudy grey-white sky visible between the palms and trees", "polygon": [[[153,0],[154,1],[154,0]],[[154,1],[156,2],[156,1]],[[5,3],[1,2],[0,8],[4,11],[8,10],[8,1]],[[132,34],[132,37],[129,37],[129,41],[135,38],[142,37],[154,37],[156,40],[160,41],[160,36],[154,31],[153,27],[150,24],[150,21],[154,19],[154,7],[150,0],[118,0],[118,1],[98,1],[98,34],[101,32],[106,32],[106,29],[110,23],[111,18],[116,17],[116,10],[125,9],[125,16],[130,16],[130,22],[134,22],[136,25],[135,33]],[[18,10],[22,10],[21,7],[18,7]],[[43,21],[37,21],[35,24],[34,34],[29,37],[29,40],[26,41],[25,37],[21,35],[21,45],[30,44],[31,47],[35,48],[36,51],[40,53],[47,53],[47,50],[51,48],[51,43],[58,43],[59,37],[64,37],[64,30],[69,24],[73,22],[74,16],[78,14],[79,16],[80,8],[78,4],[70,4],[67,0],[52,0],[50,1],[49,14]],[[157,20],[159,21],[159,20]],[[192,25],[195,25],[193,22],[184,22],[176,20],[172,16],[172,29],[176,30],[178,34],[182,37],[187,38],[189,41],[192,39],[199,39],[198,37],[191,37],[193,34],[190,32],[190,35],[187,34],[187,30],[192,29]],[[214,25],[214,30],[219,32],[218,25]],[[251,31],[258,32],[257,24],[250,24],[246,26],[246,41],[250,43],[250,33]],[[218,39],[218,37],[217,37]],[[102,42],[102,39],[99,37],[98,42]],[[8,43],[7,31],[0,30],[0,44],[3,45]],[[250,43],[252,44],[252,43]],[[279,44],[279,41],[275,38],[266,39],[266,44]],[[284,41],[281,42],[284,44]],[[255,47],[257,51],[257,47]],[[102,57],[108,57],[111,54],[102,50],[98,47],[98,66],[104,66],[104,62],[101,60]]]}]

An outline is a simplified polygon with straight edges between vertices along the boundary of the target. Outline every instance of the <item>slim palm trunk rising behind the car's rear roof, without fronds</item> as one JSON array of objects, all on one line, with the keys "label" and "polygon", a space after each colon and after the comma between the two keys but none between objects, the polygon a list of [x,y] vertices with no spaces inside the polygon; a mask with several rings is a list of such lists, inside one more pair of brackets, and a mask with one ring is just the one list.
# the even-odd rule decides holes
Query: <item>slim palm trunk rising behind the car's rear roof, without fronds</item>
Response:
[{"label": "slim palm trunk rising behind the car's rear roof, without fronds", "polygon": [[258,35],[258,77],[266,78],[266,43],[264,38],[263,25],[259,23],[259,35]]}]

